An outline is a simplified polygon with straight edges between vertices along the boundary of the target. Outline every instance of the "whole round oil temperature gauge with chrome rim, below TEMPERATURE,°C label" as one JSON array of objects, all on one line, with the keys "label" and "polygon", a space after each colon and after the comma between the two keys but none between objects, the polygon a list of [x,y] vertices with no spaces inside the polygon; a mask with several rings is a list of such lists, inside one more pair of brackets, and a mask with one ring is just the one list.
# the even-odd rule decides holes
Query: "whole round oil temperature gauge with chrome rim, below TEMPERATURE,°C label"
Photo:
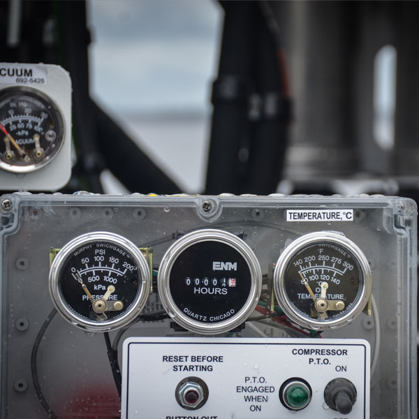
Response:
[{"label": "whole round oil temperature gauge with chrome rim, below TEMPERATURE,\u00b0C label", "polygon": [[371,270],[364,253],[343,235],[311,233],[292,242],[274,271],[281,309],[305,328],[344,326],[360,314],[371,293]]}]

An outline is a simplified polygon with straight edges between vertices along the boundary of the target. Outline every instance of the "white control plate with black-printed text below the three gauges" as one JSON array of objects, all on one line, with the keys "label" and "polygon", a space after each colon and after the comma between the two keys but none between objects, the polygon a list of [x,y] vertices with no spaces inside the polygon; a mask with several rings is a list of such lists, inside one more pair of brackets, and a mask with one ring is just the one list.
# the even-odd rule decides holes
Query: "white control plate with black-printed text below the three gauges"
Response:
[{"label": "white control plate with black-printed text below the three gauges", "polygon": [[[369,419],[369,343],[362,339],[132,337],[124,341],[122,419]],[[186,410],[175,399],[182,379],[208,387],[205,405]],[[279,389],[303,378],[311,402],[281,404]],[[325,386],[346,378],[357,391],[351,413],[328,408]]]}]

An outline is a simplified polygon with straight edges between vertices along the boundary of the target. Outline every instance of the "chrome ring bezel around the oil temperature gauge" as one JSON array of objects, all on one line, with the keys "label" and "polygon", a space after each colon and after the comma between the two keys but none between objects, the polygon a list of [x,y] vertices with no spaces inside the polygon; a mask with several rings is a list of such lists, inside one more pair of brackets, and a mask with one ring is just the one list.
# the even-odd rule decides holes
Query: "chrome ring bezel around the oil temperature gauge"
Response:
[{"label": "chrome ring bezel around the oil temperature gauge", "polygon": [[[319,321],[314,318],[303,316],[295,309],[290,297],[285,291],[284,281],[288,265],[292,263],[292,260],[297,253],[302,251],[305,247],[321,243],[335,244],[351,254],[358,265],[361,288],[357,299],[353,302],[353,306],[345,311],[344,314],[331,320],[325,319]],[[353,321],[367,305],[371,295],[371,289],[372,272],[365,254],[352,240],[349,240],[344,235],[332,231],[309,233],[303,235],[297,240],[294,240],[281,253],[274,269],[274,292],[277,297],[279,307],[284,310],[284,313],[291,319],[291,321],[311,330],[331,330],[351,323],[351,321]]]}]

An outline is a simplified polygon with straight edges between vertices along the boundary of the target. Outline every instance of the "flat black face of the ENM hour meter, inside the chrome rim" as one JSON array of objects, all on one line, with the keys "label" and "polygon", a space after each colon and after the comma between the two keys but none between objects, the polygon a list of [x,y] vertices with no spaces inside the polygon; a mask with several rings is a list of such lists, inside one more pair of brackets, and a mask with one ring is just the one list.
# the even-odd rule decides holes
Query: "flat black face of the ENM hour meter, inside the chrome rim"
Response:
[{"label": "flat black face of the ENM hour meter, inside the chrome rim", "polygon": [[251,293],[251,271],[229,244],[207,240],[188,247],[170,270],[170,294],[186,316],[216,323],[242,309]]}]

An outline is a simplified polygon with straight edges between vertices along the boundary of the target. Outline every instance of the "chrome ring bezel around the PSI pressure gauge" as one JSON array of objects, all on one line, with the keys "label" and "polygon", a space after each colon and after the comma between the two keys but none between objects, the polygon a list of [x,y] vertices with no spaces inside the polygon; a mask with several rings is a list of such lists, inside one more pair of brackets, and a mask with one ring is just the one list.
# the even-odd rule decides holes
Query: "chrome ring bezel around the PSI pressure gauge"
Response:
[{"label": "chrome ring bezel around the PSI pressure gauge", "polygon": [[[138,270],[140,271],[141,279],[141,284],[138,284],[138,287],[141,287],[140,291],[136,295],[135,300],[133,300],[130,307],[124,310],[124,313],[117,316],[117,318],[111,318],[100,322],[92,321],[79,316],[75,313],[75,311],[68,307],[68,303],[62,295],[60,287],[61,272],[68,260],[68,257],[71,256],[71,253],[80,249],[81,246],[94,242],[109,242],[111,244],[115,244],[121,249],[124,249],[124,251],[129,253],[133,258],[133,263],[137,265]],[[151,278],[149,266],[140,249],[138,249],[138,247],[136,247],[135,244],[133,244],[133,242],[128,240],[126,237],[105,231],[86,233],[75,237],[62,249],[60,249],[57,256],[52,261],[50,268],[49,288],[54,307],[66,321],[89,332],[108,332],[110,330],[122,328],[131,323],[131,321],[133,321],[140,314],[140,311],[142,311],[145,303],[147,302],[147,297],[150,292],[150,284]]]}]

